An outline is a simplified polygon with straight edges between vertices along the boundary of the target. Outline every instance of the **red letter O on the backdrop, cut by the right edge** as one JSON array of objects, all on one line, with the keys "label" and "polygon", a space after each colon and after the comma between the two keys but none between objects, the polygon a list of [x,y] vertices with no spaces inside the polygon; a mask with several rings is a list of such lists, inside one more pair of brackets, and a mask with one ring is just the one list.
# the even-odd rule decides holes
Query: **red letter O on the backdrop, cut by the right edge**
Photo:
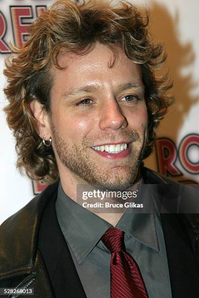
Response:
[{"label": "red letter O on the backdrop, cut by the right edge", "polygon": [[188,151],[192,146],[199,150],[199,134],[186,135],[179,145],[179,161],[182,167],[191,174],[199,174],[199,161],[192,162],[189,158]]}]

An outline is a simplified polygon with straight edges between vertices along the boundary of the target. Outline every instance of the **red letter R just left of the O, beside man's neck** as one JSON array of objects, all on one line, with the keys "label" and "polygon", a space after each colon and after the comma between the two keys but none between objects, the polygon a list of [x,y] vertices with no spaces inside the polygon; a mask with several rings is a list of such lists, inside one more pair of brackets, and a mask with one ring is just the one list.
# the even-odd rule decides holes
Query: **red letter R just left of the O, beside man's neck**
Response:
[{"label": "red letter R just left of the O, beside man's neck", "polygon": [[158,138],[156,141],[156,157],[159,173],[171,176],[179,176],[181,172],[176,167],[177,149],[172,140],[168,138]]}]

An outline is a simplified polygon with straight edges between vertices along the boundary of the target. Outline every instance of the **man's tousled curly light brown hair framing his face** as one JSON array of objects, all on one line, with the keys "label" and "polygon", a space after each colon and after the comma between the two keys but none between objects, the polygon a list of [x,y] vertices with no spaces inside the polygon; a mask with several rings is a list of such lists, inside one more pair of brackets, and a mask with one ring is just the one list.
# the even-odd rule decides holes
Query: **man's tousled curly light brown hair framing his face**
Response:
[{"label": "man's tousled curly light brown hair framing his face", "polygon": [[52,66],[60,68],[60,53],[85,55],[96,42],[108,46],[117,58],[115,46],[139,63],[145,86],[148,110],[148,143],[144,158],[152,152],[159,121],[173,103],[167,93],[171,83],[167,75],[158,76],[166,55],[160,43],[151,40],[148,13],[140,13],[127,1],[117,4],[101,0],[74,3],[55,2],[29,27],[30,37],[22,48],[13,47],[6,61],[4,75],[8,84],[4,89],[9,104],[4,108],[7,123],[16,137],[17,167],[26,174],[47,184],[59,178],[52,147],[42,145],[30,102],[37,99],[50,113]]}]

